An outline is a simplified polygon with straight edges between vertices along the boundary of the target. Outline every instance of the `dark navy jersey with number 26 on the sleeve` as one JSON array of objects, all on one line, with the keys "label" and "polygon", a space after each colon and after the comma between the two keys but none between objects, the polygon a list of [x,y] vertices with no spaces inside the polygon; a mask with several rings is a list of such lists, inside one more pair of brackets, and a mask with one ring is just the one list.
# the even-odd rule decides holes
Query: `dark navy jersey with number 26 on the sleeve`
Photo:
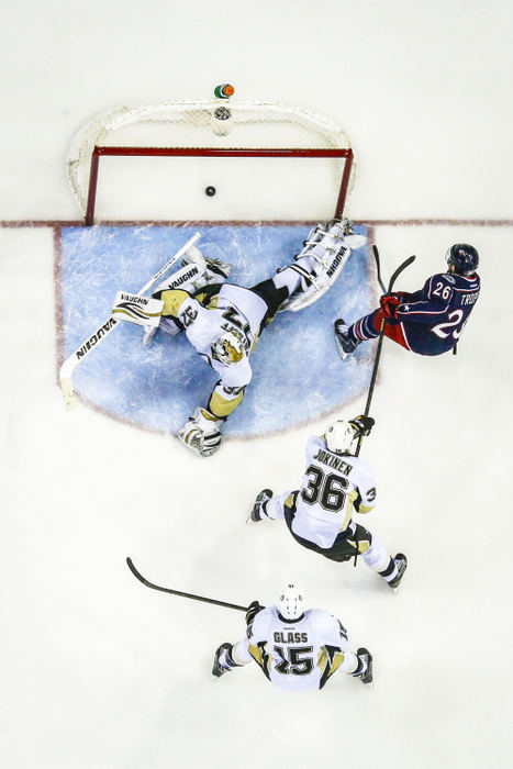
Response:
[{"label": "dark navy jersey with number 26 on the sleeve", "polygon": [[479,297],[478,275],[440,272],[415,293],[400,293],[397,320],[410,349],[442,355],[455,346]]}]

